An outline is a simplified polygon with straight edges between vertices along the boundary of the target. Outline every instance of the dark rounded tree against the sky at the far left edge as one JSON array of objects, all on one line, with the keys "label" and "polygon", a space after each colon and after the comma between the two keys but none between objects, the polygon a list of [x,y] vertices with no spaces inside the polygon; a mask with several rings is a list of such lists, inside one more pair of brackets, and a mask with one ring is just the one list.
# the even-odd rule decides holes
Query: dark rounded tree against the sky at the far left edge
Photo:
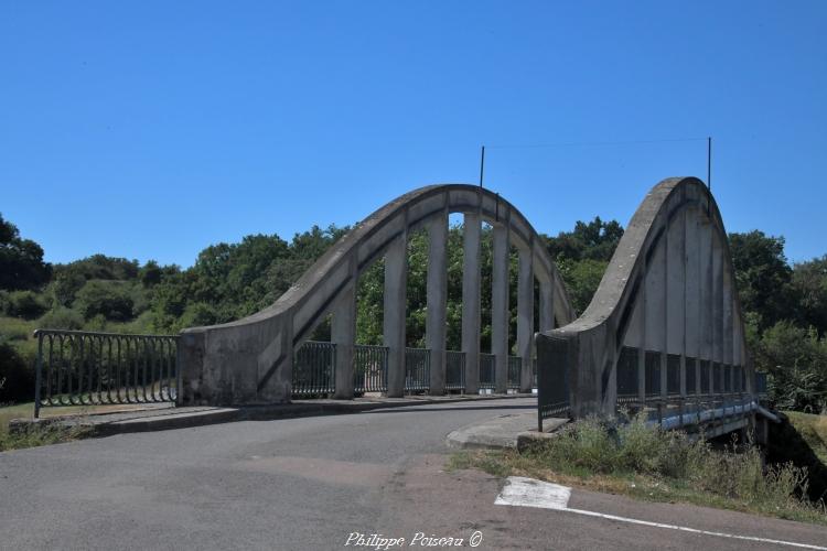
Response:
[{"label": "dark rounded tree against the sky at the far left edge", "polygon": [[51,264],[43,261],[43,249],[22,239],[18,227],[0,214],[0,289],[37,289],[49,282]]}]

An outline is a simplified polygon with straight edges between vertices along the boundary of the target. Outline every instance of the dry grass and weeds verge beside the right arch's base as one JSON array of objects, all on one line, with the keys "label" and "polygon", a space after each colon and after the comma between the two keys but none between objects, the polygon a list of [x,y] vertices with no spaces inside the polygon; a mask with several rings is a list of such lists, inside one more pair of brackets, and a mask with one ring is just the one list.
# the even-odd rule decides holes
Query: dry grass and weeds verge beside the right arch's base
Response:
[{"label": "dry grass and weeds verge beside the right arch's base", "polygon": [[805,497],[807,471],[791,463],[764,468],[750,442],[715,450],[642,419],[609,425],[587,419],[522,452],[453,454],[449,469],[480,468],[648,501],[689,503],[827,526],[824,501]]}]

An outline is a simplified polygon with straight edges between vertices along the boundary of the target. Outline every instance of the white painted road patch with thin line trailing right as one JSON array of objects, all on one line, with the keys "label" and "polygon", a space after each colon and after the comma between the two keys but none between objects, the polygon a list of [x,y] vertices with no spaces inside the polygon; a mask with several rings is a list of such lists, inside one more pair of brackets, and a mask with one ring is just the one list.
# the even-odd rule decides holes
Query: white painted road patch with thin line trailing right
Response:
[{"label": "white painted road patch with thin line trailing right", "polygon": [[541,509],[555,509],[559,511],[573,512],[574,515],[584,515],[588,517],[604,518],[606,520],[616,520],[619,522],[629,522],[632,525],[651,526],[654,528],[666,528],[668,530],[678,530],[681,532],[700,533],[704,536],[717,536],[719,538],[730,538],[734,540],[747,540],[747,541],[759,541],[762,543],[775,543],[778,545],[790,545],[794,548],[803,549],[817,549],[820,551],[827,551],[827,548],[819,545],[812,545],[809,543],[797,543],[794,541],[773,540],[770,538],[759,538],[756,536],[738,536],[734,533],[726,532],[713,532],[710,530],[698,530],[697,528],[688,528],[685,526],[677,525],[665,525],[663,522],[652,522],[648,520],[640,520],[627,517],[619,517],[616,515],[606,515],[603,512],[588,511],[584,509],[571,509],[569,508],[569,498],[571,497],[571,488],[560,486],[559,484],[551,484],[541,480],[535,480],[534,478],[525,478],[523,476],[509,476],[503,491],[500,493],[497,498],[494,500],[494,505],[511,505],[515,507],[538,507]]}]

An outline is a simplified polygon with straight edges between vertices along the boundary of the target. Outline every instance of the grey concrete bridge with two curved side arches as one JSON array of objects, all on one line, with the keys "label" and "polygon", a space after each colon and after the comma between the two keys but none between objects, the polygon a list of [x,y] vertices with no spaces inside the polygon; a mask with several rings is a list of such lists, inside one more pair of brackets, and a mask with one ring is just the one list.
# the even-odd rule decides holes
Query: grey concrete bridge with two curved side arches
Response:
[{"label": "grey concrete bridge with two curved side arches", "polygon": [[[445,347],[451,213],[464,216],[460,350]],[[483,222],[493,233],[490,290],[481,289]],[[429,239],[423,349],[406,347],[407,242],[419,229]],[[519,263],[515,350],[508,347],[512,246]],[[380,258],[384,346],[361,346],[357,282]],[[492,304],[486,352],[480,349],[482,292],[491,292]],[[329,316],[331,342],[310,342]],[[631,408],[656,412],[666,425],[727,419],[731,429],[731,421],[741,428],[759,408],[726,231],[699,180],[669,179],[649,192],[594,299],[574,317],[544,244],[514,205],[477,186],[422,187],[356,225],[272,306],[184,331],[179,403],[273,403],[302,393],[352,399],[366,391],[530,392],[536,365],[540,425],[551,415]]]}]

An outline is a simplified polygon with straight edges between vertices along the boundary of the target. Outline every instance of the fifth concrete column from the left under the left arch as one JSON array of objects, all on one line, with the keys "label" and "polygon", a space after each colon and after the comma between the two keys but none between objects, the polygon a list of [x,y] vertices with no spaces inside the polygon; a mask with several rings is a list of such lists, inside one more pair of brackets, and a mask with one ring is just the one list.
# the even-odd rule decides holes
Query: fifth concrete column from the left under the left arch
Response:
[{"label": "fifth concrete column from the left under the left arch", "polygon": [[508,227],[494,226],[491,284],[491,354],[495,356],[494,387],[508,390]]}]

